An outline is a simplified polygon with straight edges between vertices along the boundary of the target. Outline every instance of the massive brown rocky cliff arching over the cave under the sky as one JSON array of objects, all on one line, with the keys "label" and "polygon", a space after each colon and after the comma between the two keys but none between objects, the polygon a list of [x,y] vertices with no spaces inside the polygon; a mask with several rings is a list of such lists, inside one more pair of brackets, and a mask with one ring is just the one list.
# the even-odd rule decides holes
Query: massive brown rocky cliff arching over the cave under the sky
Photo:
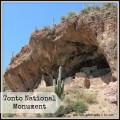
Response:
[{"label": "massive brown rocky cliff arching over the cave under the sky", "polygon": [[102,11],[82,13],[48,31],[33,32],[29,45],[22,48],[4,74],[10,89],[35,89],[42,75],[46,84],[52,85],[59,66],[66,78],[83,67],[103,64],[110,67],[111,80],[117,80],[117,23],[103,17]]}]

